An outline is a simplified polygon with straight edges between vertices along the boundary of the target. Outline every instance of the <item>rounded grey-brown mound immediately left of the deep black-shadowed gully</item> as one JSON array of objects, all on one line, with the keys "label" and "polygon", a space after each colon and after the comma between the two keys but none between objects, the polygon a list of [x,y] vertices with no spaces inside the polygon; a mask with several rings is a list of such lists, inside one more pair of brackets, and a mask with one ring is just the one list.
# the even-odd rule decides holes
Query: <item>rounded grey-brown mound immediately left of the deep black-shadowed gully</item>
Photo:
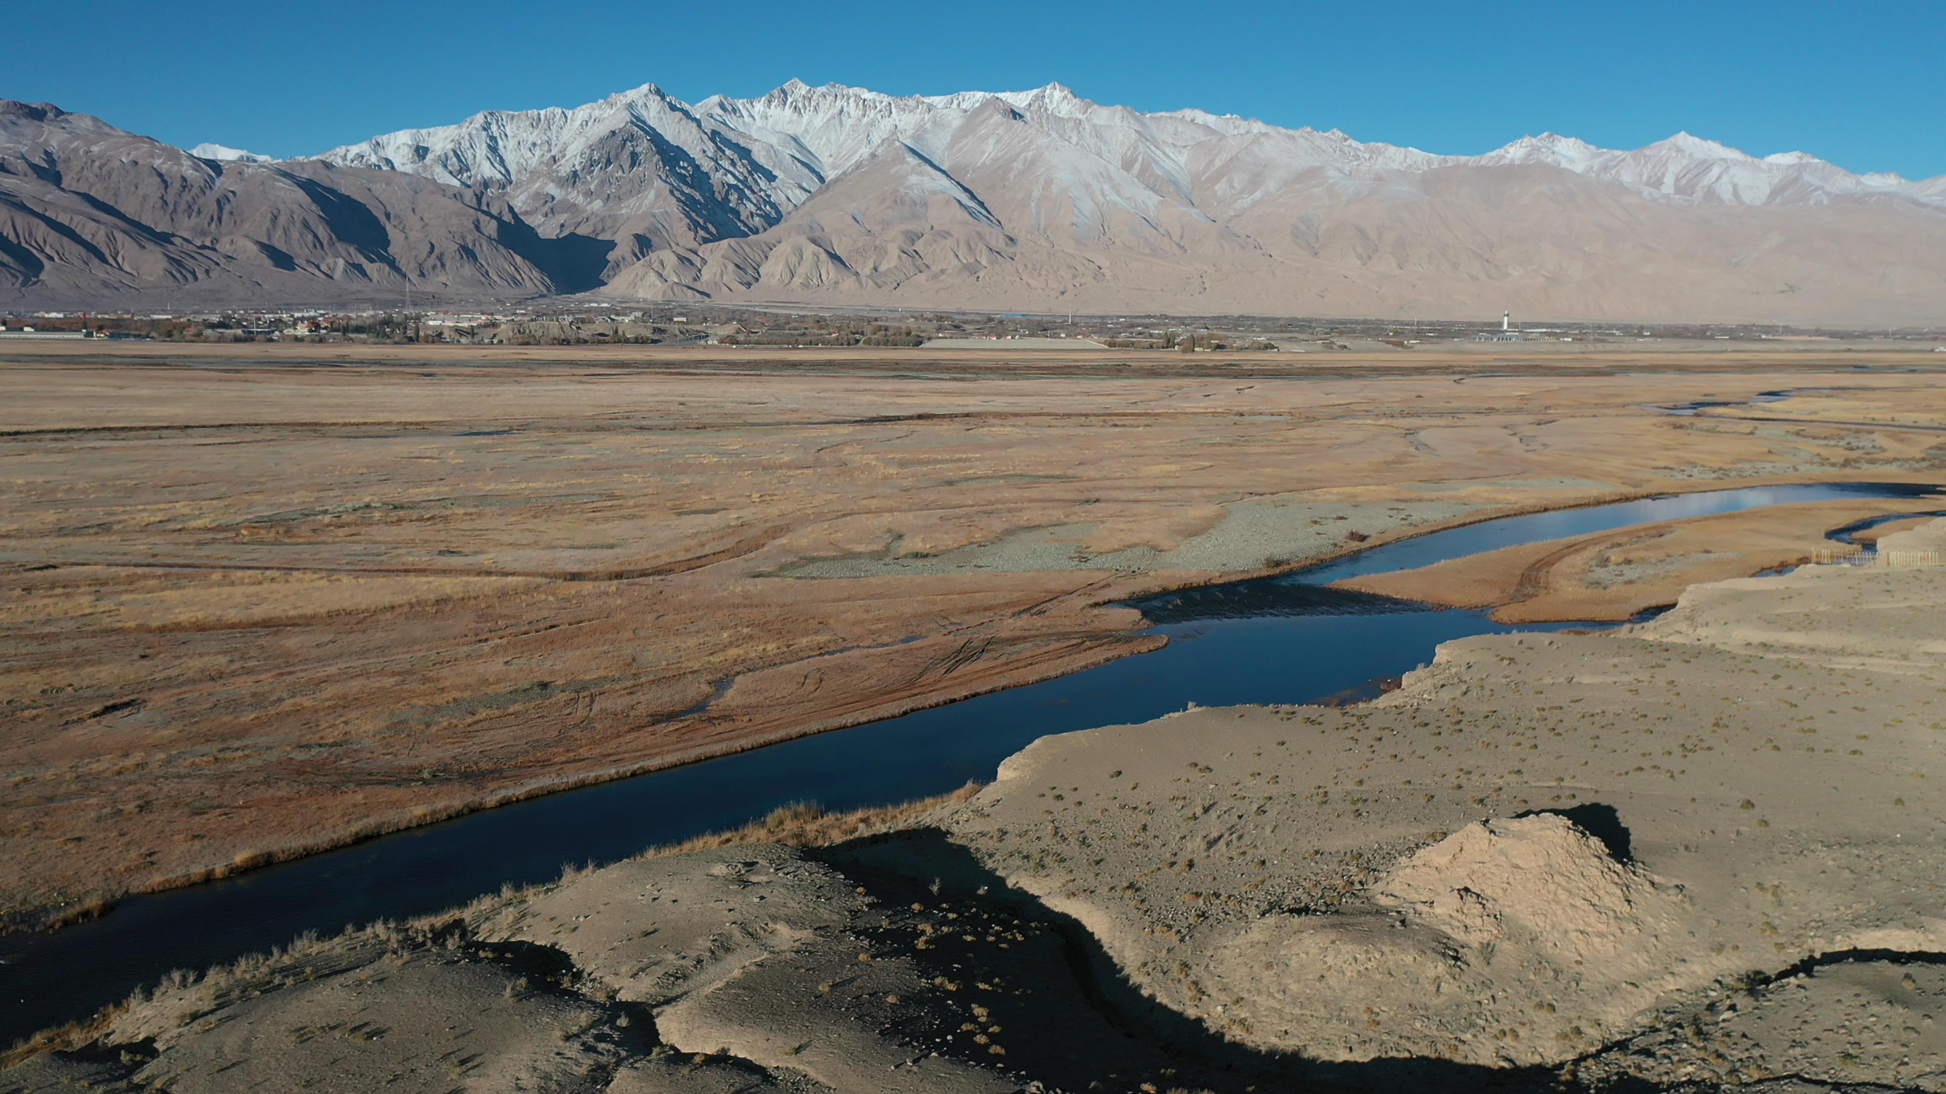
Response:
[{"label": "rounded grey-brown mound immediately left of the deep black-shadowed gully", "polygon": [[872,960],[854,927],[868,903],[796,849],[722,847],[584,874],[486,932],[559,948],[599,995],[652,1006],[666,1043],[736,1057],[776,1082],[796,1075],[860,1094],[1006,1088],[955,1061],[913,1059],[883,1036],[922,977],[905,956]]}]

